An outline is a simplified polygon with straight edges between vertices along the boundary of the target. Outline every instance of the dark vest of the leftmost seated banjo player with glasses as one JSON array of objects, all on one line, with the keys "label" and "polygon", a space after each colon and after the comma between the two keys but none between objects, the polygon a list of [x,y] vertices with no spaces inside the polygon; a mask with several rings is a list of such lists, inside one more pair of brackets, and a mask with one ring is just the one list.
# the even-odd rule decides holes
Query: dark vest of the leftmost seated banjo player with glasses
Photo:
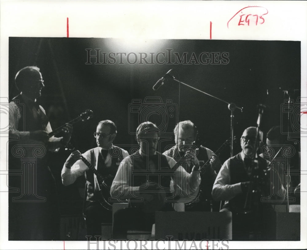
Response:
[{"label": "dark vest of the leftmost seated banjo player with glasses", "polygon": [[[122,157],[122,150],[117,147],[117,146],[113,146],[113,148],[111,150],[116,150],[116,152],[120,152],[120,155],[118,157],[113,157],[112,155],[117,155],[117,154],[112,154],[111,153],[111,166],[107,167],[103,161],[103,157],[101,156],[101,153],[99,152],[98,154],[98,159],[95,159],[95,149],[91,149],[90,153],[91,153],[91,164],[95,167],[94,162],[97,162],[97,171],[99,171],[103,176],[109,176],[110,175],[110,179],[109,182],[112,183],[117,169],[119,167],[119,163],[122,161],[123,157]],[[118,151],[117,151],[118,150]],[[94,173],[91,171],[91,169],[88,169],[87,171],[85,171],[84,173],[85,175],[85,180],[87,180],[87,200],[96,200],[95,197],[95,184],[94,184]],[[93,198],[89,199],[89,196],[91,197],[90,194],[94,194]]]}]

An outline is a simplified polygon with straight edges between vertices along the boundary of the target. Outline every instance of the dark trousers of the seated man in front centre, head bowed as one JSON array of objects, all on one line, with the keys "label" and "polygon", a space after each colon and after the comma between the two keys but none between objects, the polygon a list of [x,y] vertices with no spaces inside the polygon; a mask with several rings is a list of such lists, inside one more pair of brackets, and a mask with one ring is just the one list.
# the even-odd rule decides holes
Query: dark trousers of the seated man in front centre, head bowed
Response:
[{"label": "dark trousers of the seated man in front centre, head bowed", "polygon": [[127,238],[127,230],[151,232],[155,219],[154,216],[154,213],[144,213],[134,207],[118,210],[114,214],[113,238],[125,240]]}]

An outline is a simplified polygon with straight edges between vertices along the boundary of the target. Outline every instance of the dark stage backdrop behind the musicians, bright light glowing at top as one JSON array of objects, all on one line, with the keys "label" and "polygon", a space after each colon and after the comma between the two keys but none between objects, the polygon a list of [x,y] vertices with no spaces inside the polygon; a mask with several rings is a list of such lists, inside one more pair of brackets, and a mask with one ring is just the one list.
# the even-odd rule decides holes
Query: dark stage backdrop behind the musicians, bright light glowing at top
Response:
[{"label": "dark stage backdrop behind the musicians, bright light glowing at top", "polygon": [[[142,100],[138,107],[148,107],[145,97],[161,97],[162,103],[156,112],[146,115],[150,121],[164,124],[165,132],[172,133],[178,120],[190,119],[198,128],[198,142],[215,151],[230,137],[230,111],[227,104],[206,96],[175,81],[167,80],[157,91],[152,87],[169,69],[181,81],[204,92],[233,102],[243,107],[235,111],[235,135],[240,138],[243,130],[256,126],[257,104],[268,105],[264,112],[262,130],[267,132],[273,125],[279,125],[285,115],[280,108],[284,103],[286,89],[298,89],[294,98],[300,96],[301,88],[301,44],[297,41],[243,41],[243,40],[155,40],[148,45],[124,44],[118,39],[94,38],[24,38],[9,39],[9,98],[18,94],[14,77],[22,67],[35,65],[41,69],[45,88],[38,100],[45,108],[53,129],[80,115],[86,109],[94,112],[94,118],[76,123],[71,142],[84,152],[96,146],[93,132],[97,123],[111,119],[117,125],[118,134],[115,145],[130,150],[136,146],[134,132],[143,116],[131,112],[132,100]],[[134,44],[134,45],[133,45]],[[228,52],[228,64],[129,64],[119,56],[115,64],[91,64],[87,62],[86,49],[100,52],[165,52],[172,49],[182,55],[188,52]],[[139,55],[138,55],[139,56]],[[134,57],[131,57],[133,61]],[[102,55],[100,56],[102,61]],[[150,61],[150,59],[147,59]],[[162,59],[161,59],[162,61]],[[280,88],[280,89],[279,89]],[[268,91],[267,91],[268,90]],[[167,103],[167,100],[171,100]],[[177,109],[178,114],[170,111]],[[162,119],[159,110],[166,112]],[[171,117],[171,114],[174,117]],[[164,118],[165,118],[164,117]],[[144,119],[145,119],[144,118]],[[161,143],[160,152],[173,145],[174,138]],[[234,154],[240,151],[239,140],[235,143]],[[58,184],[62,214],[80,214],[84,187],[80,178],[70,187],[61,184],[60,172],[70,152],[61,150],[50,153],[50,167]],[[221,161],[230,156],[230,148],[220,155]]]}]

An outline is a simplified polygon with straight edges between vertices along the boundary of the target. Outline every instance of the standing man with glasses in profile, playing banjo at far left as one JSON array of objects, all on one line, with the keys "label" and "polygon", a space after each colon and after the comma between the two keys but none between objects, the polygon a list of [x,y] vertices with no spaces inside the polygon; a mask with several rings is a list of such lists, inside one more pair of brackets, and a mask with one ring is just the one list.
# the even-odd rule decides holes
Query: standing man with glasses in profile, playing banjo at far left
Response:
[{"label": "standing man with glasses in profile, playing banjo at far left", "polygon": [[19,188],[9,192],[9,240],[59,240],[56,184],[46,151],[57,152],[66,145],[72,126],[63,127],[62,137],[49,138],[51,125],[37,101],[45,86],[38,67],[19,70],[15,84],[20,94],[9,105],[9,169],[19,173],[22,170],[22,176],[9,175],[10,187]]}]

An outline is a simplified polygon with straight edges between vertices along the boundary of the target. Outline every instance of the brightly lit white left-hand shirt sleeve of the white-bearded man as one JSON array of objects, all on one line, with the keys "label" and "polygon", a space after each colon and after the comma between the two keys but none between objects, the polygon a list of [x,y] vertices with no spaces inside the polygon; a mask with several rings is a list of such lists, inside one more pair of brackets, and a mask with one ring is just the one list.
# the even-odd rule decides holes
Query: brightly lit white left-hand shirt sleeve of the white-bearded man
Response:
[{"label": "brightly lit white left-hand shirt sleeve of the white-bearded man", "polygon": [[213,184],[212,197],[214,200],[230,200],[242,193],[241,183],[230,184],[230,160],[223,164]]}]

